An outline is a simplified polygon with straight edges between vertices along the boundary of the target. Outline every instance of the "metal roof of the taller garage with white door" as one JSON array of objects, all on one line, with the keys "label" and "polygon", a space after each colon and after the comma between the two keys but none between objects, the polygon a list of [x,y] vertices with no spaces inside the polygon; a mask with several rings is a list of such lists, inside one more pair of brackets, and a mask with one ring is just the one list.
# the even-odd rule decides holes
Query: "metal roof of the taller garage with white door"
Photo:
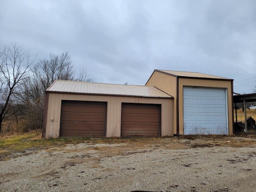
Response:
[{"label": "metal roof of the taller garage with white door", "polygon": [[170,70],[155,70],[158,72],[162,72],[165,74],[169,74],[176,77],[188,77],[188,78],[210,78],[210,79],[221,79],[221,80],[232,80],[229,78],[214,76],[214,75],[208,75],[198,72],[184,72],[184,71],[170,71]]}]

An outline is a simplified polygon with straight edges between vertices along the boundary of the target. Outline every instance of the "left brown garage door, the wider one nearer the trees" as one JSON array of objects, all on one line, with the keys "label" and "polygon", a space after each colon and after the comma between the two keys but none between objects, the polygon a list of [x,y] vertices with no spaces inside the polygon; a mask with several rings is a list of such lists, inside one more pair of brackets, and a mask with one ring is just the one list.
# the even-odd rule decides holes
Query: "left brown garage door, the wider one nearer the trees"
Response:
[{"label": "left brown garage door, the wider one nearer the trees", "polygon": [[106,102],[62,101],[60,137],[104,137]]}]

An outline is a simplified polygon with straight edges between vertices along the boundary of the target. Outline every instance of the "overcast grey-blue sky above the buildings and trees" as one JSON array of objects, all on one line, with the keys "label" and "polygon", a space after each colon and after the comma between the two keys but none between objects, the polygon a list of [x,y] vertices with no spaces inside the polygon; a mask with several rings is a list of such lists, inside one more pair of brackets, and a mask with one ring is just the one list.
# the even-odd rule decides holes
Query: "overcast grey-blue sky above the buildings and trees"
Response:
[{"label": "overcast grey-blue sky above the buildings and trees", "polygon": [[255,0],[0,0],[0,50],[68,51],[96,82],[144,85],[154,69],[256,84]]}]

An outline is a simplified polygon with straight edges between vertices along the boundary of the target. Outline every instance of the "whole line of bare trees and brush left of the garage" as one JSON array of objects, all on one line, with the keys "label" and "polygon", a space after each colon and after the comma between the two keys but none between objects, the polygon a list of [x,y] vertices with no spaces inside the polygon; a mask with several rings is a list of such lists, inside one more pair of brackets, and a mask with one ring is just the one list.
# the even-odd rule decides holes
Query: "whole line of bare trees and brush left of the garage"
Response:
[{"label": "whole line of bare trees and brush left of the garage", "polygon": [[23,46],[0,50],[0,133],[42,128],[45,90],[55,80],[93,82],[87,68],[74,69],[68,52],[38,59]]}]

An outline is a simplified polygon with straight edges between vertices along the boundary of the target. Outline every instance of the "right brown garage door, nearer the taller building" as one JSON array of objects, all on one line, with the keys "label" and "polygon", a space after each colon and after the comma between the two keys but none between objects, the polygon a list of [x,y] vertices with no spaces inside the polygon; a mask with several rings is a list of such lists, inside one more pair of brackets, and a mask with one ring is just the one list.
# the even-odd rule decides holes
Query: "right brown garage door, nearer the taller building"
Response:
[{"label": "right brown garage door, nearer the taller building", "polygon": [[121,137],[160,136],[160,105],[122,103]]}]

